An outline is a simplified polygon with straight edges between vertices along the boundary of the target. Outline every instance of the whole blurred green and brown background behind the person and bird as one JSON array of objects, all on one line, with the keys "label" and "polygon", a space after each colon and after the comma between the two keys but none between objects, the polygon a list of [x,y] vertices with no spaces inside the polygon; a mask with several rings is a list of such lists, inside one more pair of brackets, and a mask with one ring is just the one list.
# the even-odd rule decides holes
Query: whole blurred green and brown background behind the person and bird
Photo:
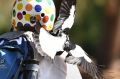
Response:
[{"label": "whole blurred green and brown background behind the person and bird", "polygon": [[[0,0],[0,34],[10,31],[13,3],[14,0]],[[77,0],[70,39],[105,69],[108,79],[120,79],[119,0]]]}]

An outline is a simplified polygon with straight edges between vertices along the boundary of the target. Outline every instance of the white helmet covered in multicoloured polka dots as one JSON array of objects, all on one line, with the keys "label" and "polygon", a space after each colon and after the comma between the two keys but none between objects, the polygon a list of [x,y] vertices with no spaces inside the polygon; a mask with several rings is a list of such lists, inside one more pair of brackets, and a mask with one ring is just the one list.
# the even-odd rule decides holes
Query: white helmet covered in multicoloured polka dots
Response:
[{"label": "white helmet covered in multicoloured polka dots", "polygon": [[16,0],[12,12],[14,30],[53,29],[55,6],[52,0]]}]

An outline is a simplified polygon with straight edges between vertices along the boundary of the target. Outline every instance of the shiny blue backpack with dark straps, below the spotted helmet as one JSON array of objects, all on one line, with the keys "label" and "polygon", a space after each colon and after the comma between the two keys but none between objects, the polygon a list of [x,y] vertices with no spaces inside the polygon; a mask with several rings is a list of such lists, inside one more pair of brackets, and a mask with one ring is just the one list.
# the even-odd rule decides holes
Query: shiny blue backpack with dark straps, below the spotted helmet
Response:
[{"label": "shiny blue backpack with dark straps, below the spotted helmet", "polygon": [[36,79],[39,61],[22,32],[0,36],[0,79]]}]

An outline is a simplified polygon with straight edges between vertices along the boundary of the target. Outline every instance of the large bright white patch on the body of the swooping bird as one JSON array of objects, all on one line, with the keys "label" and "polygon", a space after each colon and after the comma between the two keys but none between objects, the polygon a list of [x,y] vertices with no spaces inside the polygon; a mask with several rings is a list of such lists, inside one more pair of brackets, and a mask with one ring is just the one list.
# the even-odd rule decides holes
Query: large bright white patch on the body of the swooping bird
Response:
[{"label": "large bright white patch on the body of the swooping bird", "polygon": [[39,41],[42,50],[51,58],[54,58],[58,51],[63,51],[66,37],[55,37],[49,34],[44,28],[40,29]]}]

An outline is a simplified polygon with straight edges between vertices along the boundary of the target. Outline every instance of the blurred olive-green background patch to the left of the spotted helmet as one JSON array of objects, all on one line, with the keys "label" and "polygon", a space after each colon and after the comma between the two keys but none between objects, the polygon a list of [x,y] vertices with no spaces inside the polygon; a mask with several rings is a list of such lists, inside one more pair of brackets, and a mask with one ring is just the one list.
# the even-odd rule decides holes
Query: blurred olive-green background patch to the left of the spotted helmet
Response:
[{"label": "blurred olive-green background patch to the left of the spotted helmet", "polygon": [[9,31],[13,0],[0,0],[0,34]]}]

